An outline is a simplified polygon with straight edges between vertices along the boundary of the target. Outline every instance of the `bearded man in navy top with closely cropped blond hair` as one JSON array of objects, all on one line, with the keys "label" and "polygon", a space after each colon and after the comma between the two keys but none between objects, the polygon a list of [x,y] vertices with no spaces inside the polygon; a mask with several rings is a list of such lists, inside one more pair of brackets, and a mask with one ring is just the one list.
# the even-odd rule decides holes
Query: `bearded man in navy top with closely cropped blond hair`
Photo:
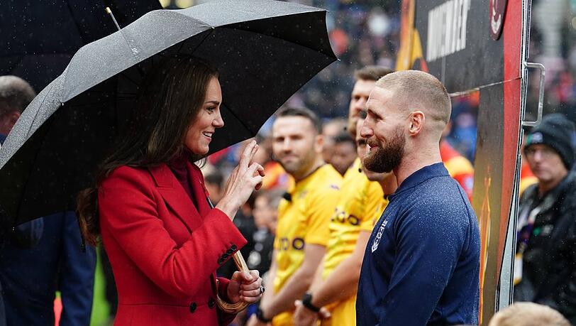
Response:
[{"label": "bearded man in navy top with closely cropped blond hair", "polygon": [[368,240],[357,324],[476,325],[480,232],[440,156],[446,89],[426,72],[394,72],[376,83],[366,108],[365,167],[394,171],[399,188]]}]

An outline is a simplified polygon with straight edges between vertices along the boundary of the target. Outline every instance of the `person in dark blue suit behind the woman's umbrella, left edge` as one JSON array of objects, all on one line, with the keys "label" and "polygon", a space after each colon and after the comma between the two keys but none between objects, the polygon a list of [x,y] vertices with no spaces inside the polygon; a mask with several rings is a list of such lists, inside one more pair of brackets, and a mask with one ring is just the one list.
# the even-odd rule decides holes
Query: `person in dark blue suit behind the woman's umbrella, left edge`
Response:
[{"label": "person in dark blue suit behind the woman's umbrella, left edge", "polygon": [[[34,97],[32,87],[20,77],[0,76],[0,134],[11,131]],[[4,325],[3,308],[6,325],[50,325],[55,320],[57,290],[63,308],[57,318],[60,325],[86,325],[92,309],[96,251],[93,247],[82,251],[74,212],[40,217],[6,234],[1,234],[3,228],[0,325]]]}]

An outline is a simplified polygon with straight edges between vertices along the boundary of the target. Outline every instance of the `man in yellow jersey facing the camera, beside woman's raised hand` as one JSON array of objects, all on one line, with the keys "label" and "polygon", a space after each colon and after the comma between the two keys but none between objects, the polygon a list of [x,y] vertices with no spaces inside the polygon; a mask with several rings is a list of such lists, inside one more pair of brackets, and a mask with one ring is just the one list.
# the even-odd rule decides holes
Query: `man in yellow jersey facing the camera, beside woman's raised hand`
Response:
[{"label": "man in yellow jersey facing the camera, beside woman's raised hand", "polygon": [[326,252],[342,177],[322,159],[321,124],[309,109],[286,108],[272,126],[272,152],[294,180],[278,207],[272,266],[260,309],[248,325],[293,325],[294,301],[308,290]]}]

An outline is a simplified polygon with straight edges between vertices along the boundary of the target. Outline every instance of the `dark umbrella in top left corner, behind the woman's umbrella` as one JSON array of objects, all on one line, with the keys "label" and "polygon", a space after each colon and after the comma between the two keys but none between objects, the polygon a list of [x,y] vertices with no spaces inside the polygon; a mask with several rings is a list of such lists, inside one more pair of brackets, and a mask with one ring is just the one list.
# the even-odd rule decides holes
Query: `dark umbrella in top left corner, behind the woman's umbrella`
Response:
[{"label": "dark umbrella in top left corner, behind the woman's umbrella", "polygon": [[82,45],[116,31],[104,12],[106,6],[121,26],[162,9],[158,0],[3,1],[0,75],[16,75],[34,89],[43,89]]}]

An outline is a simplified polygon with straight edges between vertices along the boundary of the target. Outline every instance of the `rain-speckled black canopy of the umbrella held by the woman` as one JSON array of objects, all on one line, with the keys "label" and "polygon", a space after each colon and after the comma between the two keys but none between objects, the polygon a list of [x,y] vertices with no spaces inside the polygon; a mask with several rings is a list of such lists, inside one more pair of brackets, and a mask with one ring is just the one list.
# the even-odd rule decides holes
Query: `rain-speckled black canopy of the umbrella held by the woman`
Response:
[{"label": "rain-speckled black canopy of the umbrella held by the woman", "polygon": [[220,70],[211,153],[255,136],[311,77],[336,60],[326,11],[271,0],[224,0],[150,11],[80,48],[26,108],[0,148],[0,209],[11,224],[75,208],[96,165],[135,108],[157,60],[194,55]]}]

